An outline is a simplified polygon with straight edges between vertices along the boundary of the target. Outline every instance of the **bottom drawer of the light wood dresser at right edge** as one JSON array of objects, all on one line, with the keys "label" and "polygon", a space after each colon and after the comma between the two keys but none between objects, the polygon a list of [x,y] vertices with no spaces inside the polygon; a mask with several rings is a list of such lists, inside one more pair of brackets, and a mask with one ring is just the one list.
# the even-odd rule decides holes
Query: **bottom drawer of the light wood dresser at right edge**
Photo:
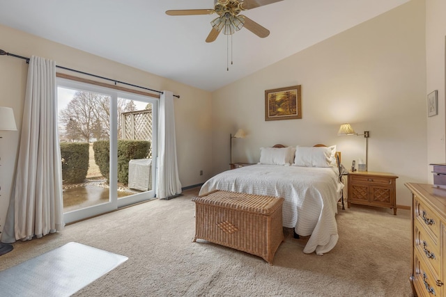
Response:
[{"label": "bottom drawer of the light wood dresser at right edge", "polygon": [[418,253],[418,250],[415,250],[413,264],[413,285],[417,290],[418,296],[443,296],[443,284],[440,283],[440,286],[438,286],[438,279],[433,275],[424,261],[421,260],[421,255]]}]

